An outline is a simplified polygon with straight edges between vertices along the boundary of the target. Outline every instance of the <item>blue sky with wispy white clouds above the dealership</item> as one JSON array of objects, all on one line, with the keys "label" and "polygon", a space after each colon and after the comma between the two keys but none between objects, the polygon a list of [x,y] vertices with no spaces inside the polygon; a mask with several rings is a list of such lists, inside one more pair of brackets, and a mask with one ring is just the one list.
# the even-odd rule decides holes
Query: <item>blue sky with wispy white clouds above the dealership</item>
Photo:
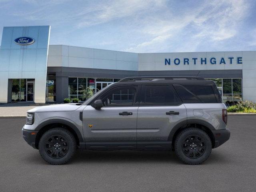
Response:
[{"label": "blue sky with wispy white clouds above the dealership", "polygon": [[4,26],[50,25],[50,44],[136,53],[256,50],[255,0],[0,0]]}]

